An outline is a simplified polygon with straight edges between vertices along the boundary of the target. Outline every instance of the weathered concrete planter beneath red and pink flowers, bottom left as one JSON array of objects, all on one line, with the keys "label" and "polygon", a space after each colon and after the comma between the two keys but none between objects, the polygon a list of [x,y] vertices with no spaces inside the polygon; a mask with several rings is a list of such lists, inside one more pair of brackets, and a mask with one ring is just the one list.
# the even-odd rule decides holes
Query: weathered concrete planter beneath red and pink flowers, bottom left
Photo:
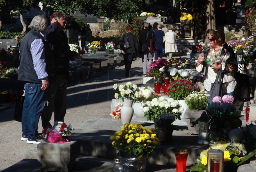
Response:
[{"label": "weathered concrete planter beneath red and pink flowers, bottom left", "polygon": [[43,165],[42,172],[61,171],[75,167],[75,160],[80,153],[80,145],[76,141],[67,143],[40,143],[37,145],[37,160]]}]

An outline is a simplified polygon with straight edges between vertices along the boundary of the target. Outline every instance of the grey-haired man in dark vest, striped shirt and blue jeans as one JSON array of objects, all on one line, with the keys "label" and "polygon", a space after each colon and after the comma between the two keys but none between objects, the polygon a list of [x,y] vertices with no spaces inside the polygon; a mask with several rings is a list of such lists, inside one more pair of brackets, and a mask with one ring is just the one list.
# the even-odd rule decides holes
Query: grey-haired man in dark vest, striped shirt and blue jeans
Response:
[{"label": "grey-haired man in dark vest, striped shirt and blue jeans", "polygon": [[39,144],[38,122],[44,108],[44,92],[49,85],[46,71],[48,44],[44,41],[47,19],[35,16],[30,25],[31,30],[20,43],[20,68],[18,80],[24,81],[25,100],[22,109],[22,141],[28,144]]}]

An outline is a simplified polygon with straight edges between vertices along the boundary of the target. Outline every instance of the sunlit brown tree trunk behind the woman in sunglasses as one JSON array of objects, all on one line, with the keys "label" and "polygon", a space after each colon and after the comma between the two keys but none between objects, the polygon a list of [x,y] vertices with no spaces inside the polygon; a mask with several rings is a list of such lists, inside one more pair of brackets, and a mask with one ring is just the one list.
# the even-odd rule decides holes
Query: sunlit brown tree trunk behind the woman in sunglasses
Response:
[{"label": "sunlit brown tree trunk behind the woman in sunglasses", "polygon": [[209,43],[209,29],[216,30],[215,8],[214,0],[206,1],[206,37],[205,43]]}]

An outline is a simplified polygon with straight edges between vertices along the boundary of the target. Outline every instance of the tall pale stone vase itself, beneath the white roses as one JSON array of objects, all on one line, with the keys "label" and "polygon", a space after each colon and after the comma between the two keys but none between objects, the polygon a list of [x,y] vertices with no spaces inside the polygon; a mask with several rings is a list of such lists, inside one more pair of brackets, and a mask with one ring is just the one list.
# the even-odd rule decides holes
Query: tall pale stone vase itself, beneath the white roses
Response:
[{"label": "tall pale stone vase itself, beneath the white roses", "polygon": [[133,116],[133,108],[132,108],[133,100],[124,99],[123,107],[121,108],[121,119],[122,123],[130,123]]}]

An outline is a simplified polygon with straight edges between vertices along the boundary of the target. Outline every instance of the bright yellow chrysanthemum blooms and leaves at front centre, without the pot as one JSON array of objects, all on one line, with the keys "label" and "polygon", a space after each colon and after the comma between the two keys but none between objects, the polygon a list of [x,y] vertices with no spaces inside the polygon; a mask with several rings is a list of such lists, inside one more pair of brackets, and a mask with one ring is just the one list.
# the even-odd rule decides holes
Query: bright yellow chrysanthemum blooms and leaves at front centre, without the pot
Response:
[{"label": "bright yellow chrysanthemum blooms and leaves at front centre, without the pot", "polygon": [[159,145],[155,129],[132,123],[124,124],[110,139],[113,140],[112,146],[116,148],[116,153],[132,153],[138,158],[152,153],[155,146]]}]

